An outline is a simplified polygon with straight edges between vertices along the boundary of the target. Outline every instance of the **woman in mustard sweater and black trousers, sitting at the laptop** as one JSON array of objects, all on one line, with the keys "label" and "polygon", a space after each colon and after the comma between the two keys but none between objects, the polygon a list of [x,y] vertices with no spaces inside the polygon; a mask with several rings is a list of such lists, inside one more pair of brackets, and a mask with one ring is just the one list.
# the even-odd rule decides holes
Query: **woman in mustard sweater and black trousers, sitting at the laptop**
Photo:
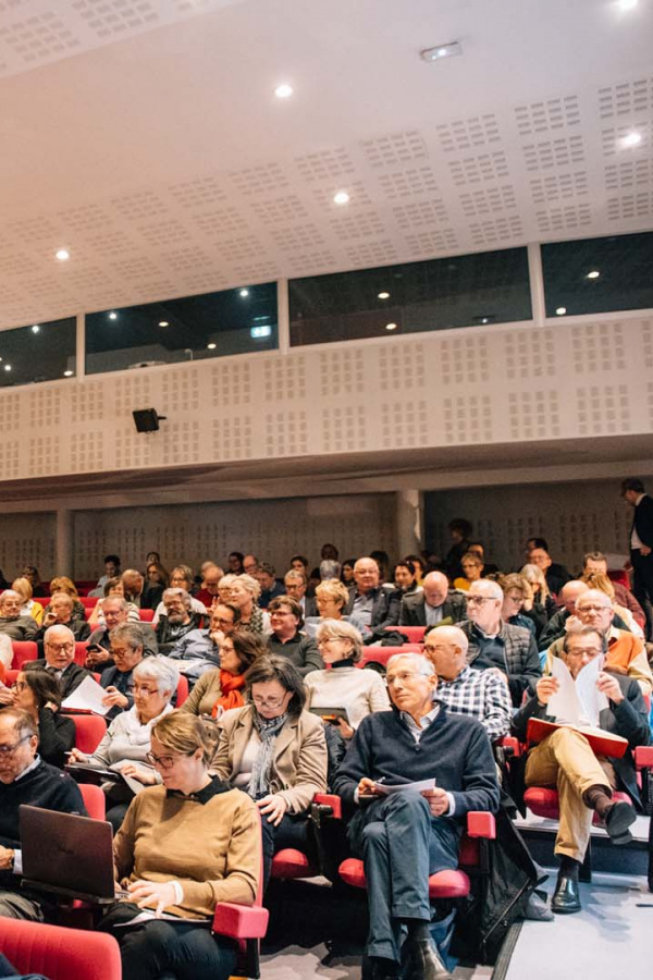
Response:
[{"label": "woman in mustard sweater and black trousers, sitting at the laptop", "polygon": [[[256,898],[256,808],[210,775],[213,744],[199,719],[169,714],[152,726],[151,745],[149,758],[162,785],[134,799],[115,836],[118,882],[131,895],[110,909],[100,929],[120,943],[123,980],[227,980],[237,946],[210,926],[219,902],[251,905]],[[121,928],[143,908],[178,922],[152,919]]]}]

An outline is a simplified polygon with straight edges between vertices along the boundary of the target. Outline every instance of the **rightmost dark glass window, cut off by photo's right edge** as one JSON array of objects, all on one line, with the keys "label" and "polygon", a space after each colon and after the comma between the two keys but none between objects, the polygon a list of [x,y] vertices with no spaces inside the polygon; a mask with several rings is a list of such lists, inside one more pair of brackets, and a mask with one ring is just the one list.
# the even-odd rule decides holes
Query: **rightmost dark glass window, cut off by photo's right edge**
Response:
[{"label": "rightmost dark glass window, cut off by photo's right edge", "polygon": [[653,233],[542,245],[542,271],[547,317],[649,309]]}]

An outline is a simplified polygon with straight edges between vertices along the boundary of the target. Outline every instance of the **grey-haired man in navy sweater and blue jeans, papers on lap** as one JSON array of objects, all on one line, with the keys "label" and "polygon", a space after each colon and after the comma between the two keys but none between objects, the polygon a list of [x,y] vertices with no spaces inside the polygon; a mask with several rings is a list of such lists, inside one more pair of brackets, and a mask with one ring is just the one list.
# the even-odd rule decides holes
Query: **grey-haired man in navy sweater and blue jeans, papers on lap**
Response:
[{"label": "grey-haired man in navy sweater and blue jeans, papers on lap", "polygon": [[[484,727],[449,714],[434,699],[436,687],[424,657],[391,657],[393,709],[362,720],[335,776],[335,792],[360,806],[348,836],[365,862],[370,930],[364,977],[373,980],[397,977],[399,964],[411,980],[451,978],[429,931],[428,875],[458,866],[458,841],[470,810],[498,809],[496,767]],[[422,793],[385,796],[374,786],[430,779],[435,788]]]}]

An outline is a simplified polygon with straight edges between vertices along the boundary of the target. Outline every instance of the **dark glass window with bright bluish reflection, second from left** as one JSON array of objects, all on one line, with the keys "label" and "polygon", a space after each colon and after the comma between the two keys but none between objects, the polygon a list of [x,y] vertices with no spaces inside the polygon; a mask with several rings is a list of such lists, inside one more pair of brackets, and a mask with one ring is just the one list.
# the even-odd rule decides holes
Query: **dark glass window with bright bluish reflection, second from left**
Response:
[{"label": "dark glass window with bright bluish reflection, second from left", "polygon": [[86,317],[86,372],[276,347],[276,283],[107,309]]}]

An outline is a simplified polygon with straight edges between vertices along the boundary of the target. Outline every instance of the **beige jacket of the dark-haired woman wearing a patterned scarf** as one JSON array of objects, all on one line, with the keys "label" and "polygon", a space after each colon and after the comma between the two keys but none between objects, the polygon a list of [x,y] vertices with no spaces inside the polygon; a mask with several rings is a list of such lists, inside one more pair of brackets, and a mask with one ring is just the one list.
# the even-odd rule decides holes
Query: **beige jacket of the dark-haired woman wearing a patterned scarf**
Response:
[{"label": "beige jacket of the dark-haired woman wearing a patterned scarf", "polygon": [[[211,772],[223,780],[233,780],[241,770],[241,761],[254,730],[252,707],[233,708],[220,719],[220,740]],[[326,791],[326,740],[322,721],[303,711],[288,718],[276,736],[274,772],[270,792],[283,796],[288,812],[301,813],[316,793]]]}]

